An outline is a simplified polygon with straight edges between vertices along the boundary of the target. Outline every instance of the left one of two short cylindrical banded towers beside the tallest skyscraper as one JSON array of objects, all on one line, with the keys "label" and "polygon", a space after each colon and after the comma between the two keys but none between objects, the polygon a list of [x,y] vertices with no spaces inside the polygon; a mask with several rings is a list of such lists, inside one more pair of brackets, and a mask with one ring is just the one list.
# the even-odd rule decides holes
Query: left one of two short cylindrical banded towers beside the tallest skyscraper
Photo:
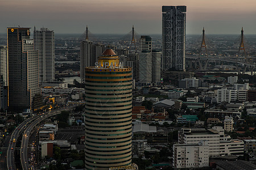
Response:
[{"label": "left one of two short cylindrical banded towers beside the tallest skyscraper", "polygon": [[149,86],[152,80],[152,54],[150,50],[139,53],[139,83]]}]

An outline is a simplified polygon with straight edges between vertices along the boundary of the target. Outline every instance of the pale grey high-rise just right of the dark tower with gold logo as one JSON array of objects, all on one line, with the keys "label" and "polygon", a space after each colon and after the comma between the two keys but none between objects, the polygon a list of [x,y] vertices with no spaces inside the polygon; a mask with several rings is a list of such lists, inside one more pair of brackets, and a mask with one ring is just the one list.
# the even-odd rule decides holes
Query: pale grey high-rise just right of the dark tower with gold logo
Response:
[{"label": "pale grey high-rise just right of the dark tower with gold logo", "polygon": [[47,28],[34,29],[34,49],[38,50],[39,84],[55,80],[55,37]]}]

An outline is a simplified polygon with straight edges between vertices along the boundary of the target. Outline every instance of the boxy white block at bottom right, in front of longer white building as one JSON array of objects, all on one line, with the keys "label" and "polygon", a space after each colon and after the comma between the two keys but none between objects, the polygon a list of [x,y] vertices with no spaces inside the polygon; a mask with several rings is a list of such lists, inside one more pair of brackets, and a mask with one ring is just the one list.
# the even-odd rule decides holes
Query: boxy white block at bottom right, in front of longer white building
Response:
[{"label": "boxy white block at bottom right, in front of longer white building", "polygon": [[197,144],[173,145],[172,165],[174,168],[201,168],[209,166],[208,141]]}]

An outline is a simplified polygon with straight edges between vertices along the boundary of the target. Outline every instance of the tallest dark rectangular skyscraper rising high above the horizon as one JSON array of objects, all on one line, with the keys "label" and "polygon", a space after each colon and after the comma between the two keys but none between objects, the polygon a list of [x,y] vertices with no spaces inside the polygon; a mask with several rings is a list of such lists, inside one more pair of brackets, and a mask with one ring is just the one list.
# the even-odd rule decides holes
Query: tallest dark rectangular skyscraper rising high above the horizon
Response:
[{"label": "tallest dark rectangular skyscraper rising high above the horizon", "polygon": [[185,70],[186,6],[162,6],[162,70]]}]

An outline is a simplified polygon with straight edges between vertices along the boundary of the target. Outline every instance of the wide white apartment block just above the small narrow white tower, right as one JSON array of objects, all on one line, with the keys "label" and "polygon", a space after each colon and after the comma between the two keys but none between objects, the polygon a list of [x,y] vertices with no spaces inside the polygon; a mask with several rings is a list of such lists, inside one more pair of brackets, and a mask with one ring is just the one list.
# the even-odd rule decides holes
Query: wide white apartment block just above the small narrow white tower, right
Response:
[{"label": "wide white apartment block just above the small narrow white tower, right", "polygon": [[221,88],[217,91],[217,103],[222,101],[235,101],[237,100],[237,90],[231,90],[228,88]]}]

